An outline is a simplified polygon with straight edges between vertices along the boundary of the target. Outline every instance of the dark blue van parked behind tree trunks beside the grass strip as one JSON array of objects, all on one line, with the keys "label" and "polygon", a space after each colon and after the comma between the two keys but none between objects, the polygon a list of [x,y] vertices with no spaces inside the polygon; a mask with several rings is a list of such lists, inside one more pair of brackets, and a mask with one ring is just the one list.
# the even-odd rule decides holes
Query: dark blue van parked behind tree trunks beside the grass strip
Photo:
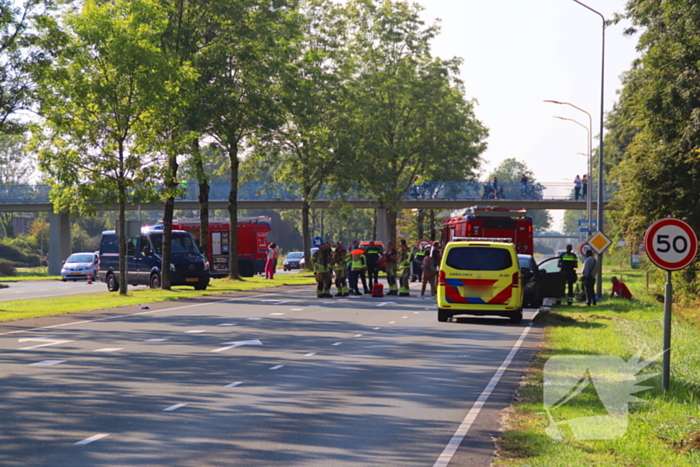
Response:
[{"label": "dark blue van parked behind tree trunks beside the grass strip", "polygon": [[[141,229],[140,237],[127,239],[126,250],[127,283],[159,288],[163,264],[162,227]],[[119,290],[119,237],[114,230],[102,232],[97,275],[110,292]],[[209,285],[209,262],[192,235],[184,230],[172,231],[170,284],[191,285],[195,290],[206,290]]]}]

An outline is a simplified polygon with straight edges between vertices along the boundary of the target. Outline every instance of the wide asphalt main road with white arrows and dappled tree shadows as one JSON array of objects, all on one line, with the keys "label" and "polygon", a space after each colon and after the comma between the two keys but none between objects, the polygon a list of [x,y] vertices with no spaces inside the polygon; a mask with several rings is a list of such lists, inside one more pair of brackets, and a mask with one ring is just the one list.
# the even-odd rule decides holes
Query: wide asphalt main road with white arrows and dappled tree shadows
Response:
[{"label": "wide asphalt main road with white arrows and dappled tree shadows", "polygon": [[2,466],[487,466],[541,337],[286,287],[0,327]]}]

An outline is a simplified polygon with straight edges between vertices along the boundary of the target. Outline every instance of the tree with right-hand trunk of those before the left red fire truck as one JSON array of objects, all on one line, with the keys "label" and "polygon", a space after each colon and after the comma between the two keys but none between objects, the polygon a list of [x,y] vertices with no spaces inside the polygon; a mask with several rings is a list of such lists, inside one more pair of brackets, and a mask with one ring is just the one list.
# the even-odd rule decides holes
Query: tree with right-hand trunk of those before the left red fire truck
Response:
[{"label": "tree with right-hand trunk of those before the left red fire truck", "polygon": [[247,138],[280,124],[277,96],[297,34],[296,13],[284,0],[217,0],[209,9],[214,37],[200,51],[197,70],[208,84],[201,90],[206,133],[224,150],[231,169],[229,277],[238,279],[239,157]]}]

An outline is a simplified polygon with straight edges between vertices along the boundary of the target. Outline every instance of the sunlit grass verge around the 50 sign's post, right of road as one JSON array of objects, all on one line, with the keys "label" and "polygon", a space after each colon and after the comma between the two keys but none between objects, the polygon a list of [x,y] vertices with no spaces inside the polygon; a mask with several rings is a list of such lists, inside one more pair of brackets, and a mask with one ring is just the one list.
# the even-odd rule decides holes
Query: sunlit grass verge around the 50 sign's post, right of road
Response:
[{"label": "sunlit grass verge around the 50 sign's post, right of road", "polygon": [[[498,441],[497,466],[697,466],[700,465],[700,331],[686,318],[695,310],[674,307],[671,354],[671,388],[661,389],[661,376],[640,383],[652,389],[637,397],[646,402],[629,406],[628,428],[613,440],[577,440],[565,430],[561,441],[545,429],[543,368],[555,355],[615,355],[625,361],[641,352],[642,358],[657,356],[663,347],[663,305],[655,295],[658,282],[646,290],[644,271],[607,274],[623,276],[635,301],[604,300],[597,307],[575,304],[553,313],[540,314],[546,326],[545,340],[533,360],[516,403],[505,419]],[[678,308],[678,309],[676,309]],[[641,373],[660,373],[657,357]],[[597,394],[584,390],[565,406],[556,409],[555,420],[603,415]]]}]

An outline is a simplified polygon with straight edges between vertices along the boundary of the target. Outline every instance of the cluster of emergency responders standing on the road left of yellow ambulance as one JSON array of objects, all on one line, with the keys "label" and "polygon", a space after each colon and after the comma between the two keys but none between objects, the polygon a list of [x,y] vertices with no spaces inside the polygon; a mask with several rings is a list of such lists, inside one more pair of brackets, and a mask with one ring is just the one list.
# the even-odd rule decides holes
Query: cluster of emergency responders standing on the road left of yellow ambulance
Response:
[{"label": "cluster of emergency responders standing on the road left of yellow ambulance", "polygon": [[[316,274],[316,295],[318,298],[332,298],[331,285],[334,278],[336,297],[363,295],[358,288],[359,279],[362,281],[364,293],[371,294],[374,285],[379,283],[379,260],[384,257],[389,284],[386,295],[408,297],[409,282],[415,276],[412,274],[412,263],[417,259],[416,253],[411,251],[404,239],[399,241],[398,249],[394,247],[393,242],[388,242],[384,252],[374,241],[370,241],[364,250],[360,248],[358,241],[353,242],[352,247],[347,249],[343,242],[336,242],[334,246],[331,242],[324,242],[311,255],[311,264]],[[366,279],[369,279],[369,286]]]}]

